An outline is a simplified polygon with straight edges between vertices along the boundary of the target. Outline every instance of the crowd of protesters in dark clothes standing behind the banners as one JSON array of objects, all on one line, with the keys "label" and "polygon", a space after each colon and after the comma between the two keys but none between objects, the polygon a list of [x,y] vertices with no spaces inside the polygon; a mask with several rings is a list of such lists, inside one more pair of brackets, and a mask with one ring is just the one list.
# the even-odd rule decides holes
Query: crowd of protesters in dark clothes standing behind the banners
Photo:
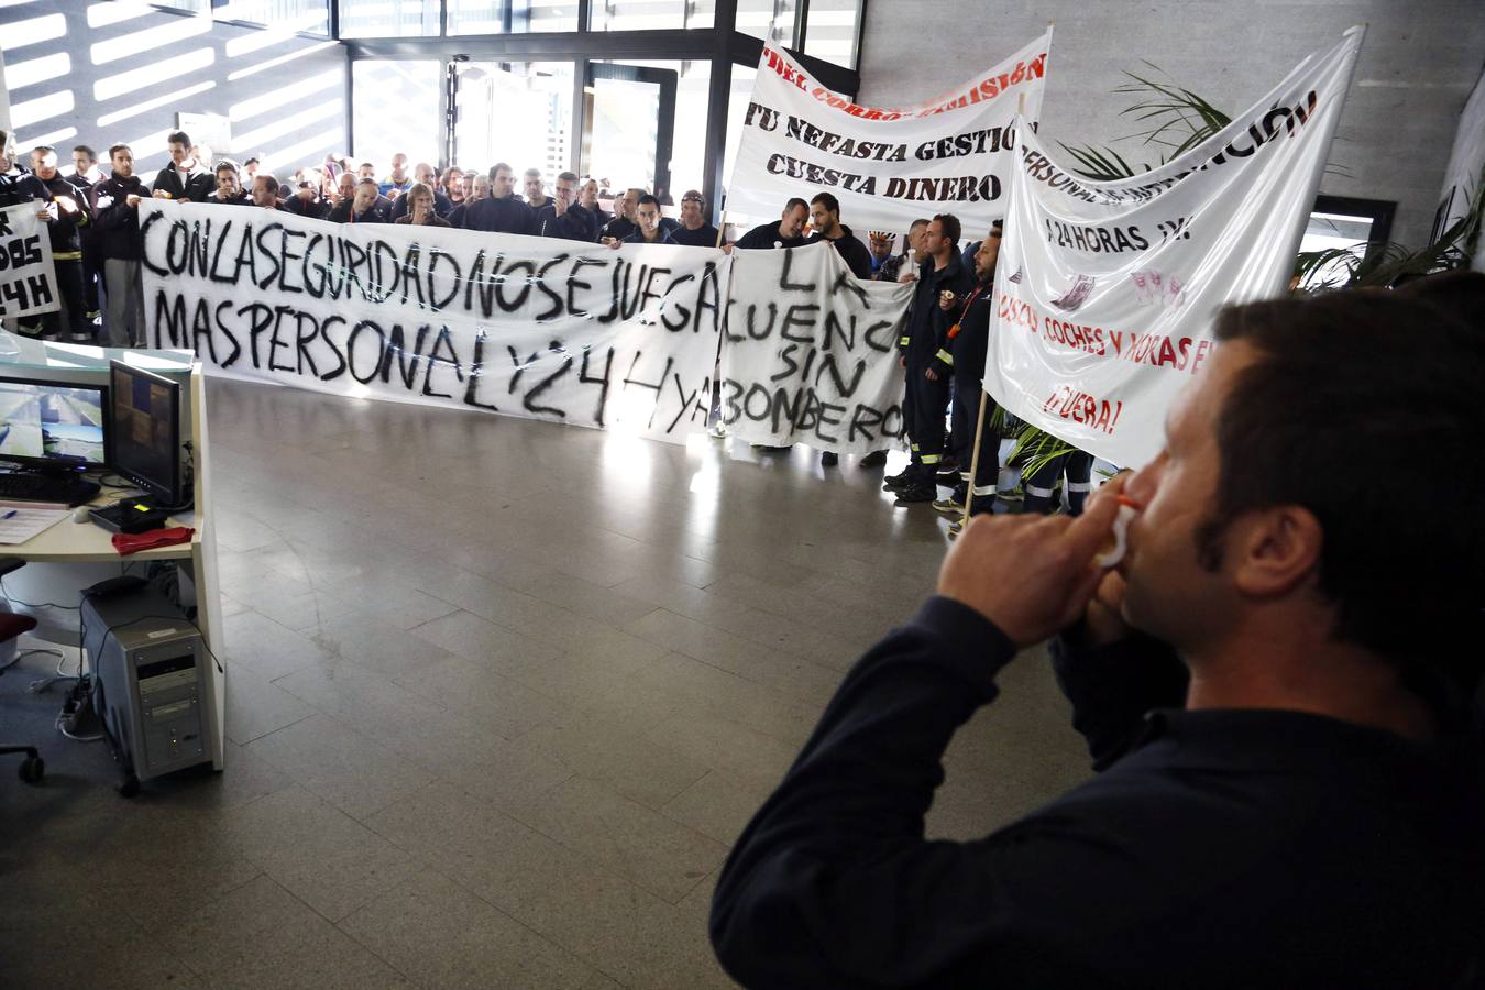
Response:
[{"label": "crowd of protesters in dark clothes standing behind the banners", "polygon": [[[999,229],[961,248],[959,221],[949,214],[910,224],[898,249],[890,232],[867,232],[863,242],[841,218],[830,193],[812,200],[790,199],[780,218],[729,240],[707,220],[707,202],[696,190],[680,197],[677,217],[665,217],[649,190],[607,190],[591,177],[558,172],[548,187],[539,169],[520,177],[499,162],[487,169],[444,171],[426,162],[408,165],[394,154],[385,172],[376,162],[327,156],[318,168],[279,177],[258,157],[242,163],[212,159],[190,135],[168,135],[169,163],[153,183],[134,172],[134,150],[114,144],[107,160],[88,145],[71,150],[64,172],[58,151],[36,147],[24,168],[0,134],[0,205],[31,200],[48,226],[61,309],[18,327],[49,340],[144,344],[144,304],[140,272],[138,203],[147,197],[285,211],[298,217],[346,224],[416,224],[492,233],[561,237],[619,246],[668,243],[731,251],[796,248],[827,242],[860,279],[916,282],[915,300],[900,350],[907,373],[903,410],[910,462],[885,487],[903,505],[933,503],[959,514],[967,503],[988,512],[996,499],[999,436],[986,430],[976,476],[974,462],[980,370],[989,334],[989,294],[995,276]],[[520,190],[517,190],[520,186]],[[668,199],[668,197],[667,197]],[[607,209],[604,208],[607,205]],[[956,355],[959,355],[956,358]],[[952,410],[952,426],[946,429]],[[826,466],[838,463],[824,453]],[[863,459],[885,462],[885,451]],[[1026,485],[1028,509],[1050,511],[1054,481],[1066,472],[1069,508],[1077,514],[1089,485],[1091,459],[1083,454],[1051,465],[1045,478]],[[940,497],[947,487],[947,497]],[[1004,493],[1002,493],[1004,497]]]}]

